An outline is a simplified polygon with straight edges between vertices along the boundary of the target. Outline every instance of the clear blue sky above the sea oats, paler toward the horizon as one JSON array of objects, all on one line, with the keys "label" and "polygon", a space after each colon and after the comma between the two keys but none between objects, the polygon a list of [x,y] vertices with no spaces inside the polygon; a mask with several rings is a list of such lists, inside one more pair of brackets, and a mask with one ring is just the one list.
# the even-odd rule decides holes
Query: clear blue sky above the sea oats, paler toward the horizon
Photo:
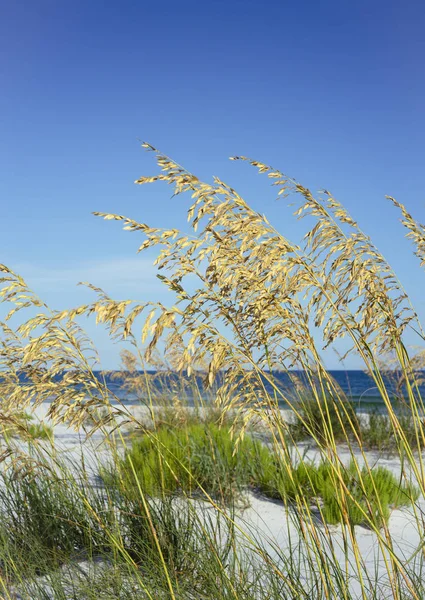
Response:
[{"label": "clear blue sky above the sea oats, paler toward the horizon", "polygon": [[[90,214],[185,222],[168,188],[134,186],[155,172],[142,138],[237,187],[289,237],[297,229],[266,179],[228,156],[330,189],[425,315],[424,275],[384,199],[425,220],[422,1],[0,6],[0,262],[54,307],[91,298],[81,279],[116,297],[164,298],[134,235]],[[106,347],[103,366],[117,366]]]}]

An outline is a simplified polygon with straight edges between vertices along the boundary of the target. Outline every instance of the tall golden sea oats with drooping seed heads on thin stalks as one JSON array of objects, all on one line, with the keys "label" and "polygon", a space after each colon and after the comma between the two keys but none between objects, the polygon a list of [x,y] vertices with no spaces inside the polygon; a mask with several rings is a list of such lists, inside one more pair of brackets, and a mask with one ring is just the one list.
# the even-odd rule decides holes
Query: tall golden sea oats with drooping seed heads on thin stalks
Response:
[{"label": "tall golden sea oats with drooping seed heads on thin stalks", "polygon": [[[193,233],[151,227],[122,215],[95,214],[121,221],[124,229],[142,234],[139,251],[158,249],[155,261],[161,271],[158,277],[175,294],[174,305],[116,301],[88,284],[98,295],[95,302],[69,311],[52,311],[18,275],[2,267],[1,295],[14,304],[2,325],[1,391],[5,414],[53,398],[50,416],[75,427],[102,406],[107,410],[96,419],[96,427],[112,425],[113,429],[137,421],[113,397],[106,382],[95,376],[95,349],[75,319],[95,315],[97,323],[105,324],[114,339],[133,346],[135,360],[144,370],[162,342],[173,370],[186,378],[197,372],[199,365],[206,365],[204,385],[215,386],[215,404],[222,413],[237,416],[235,452],[253,419],[260,419],[269,431],[280,468],[296,490],[287,504],[288,522],[295,526],[296,538],[304,545],[304,573],[308,570],[317,573],[316,581],[320,584],[317,597],[351,598],[354,593],[363,599],[378,598],[381,593],[395,599],[423,597],[420,576],[412,567],[421,564],[422,542],[409,556],[399,550],[388,525],[386,506],[383,503],[381,506],[379,492],[374,488],[373,463],[362,444],[357,420],[347,409],[321,354],[323,348],[332,347],[344,338],[349,345],[347,354],[356,353],[362,359],[387,411],[400,459],[400,486],[404,483],[408,489],[414,481],[423,496],[423,402],[416,362],[403,342],[407,328],[415,329],[422,340],[423,332],[396,275],[328,191],[315,197],[274,168],[246,157],[233,157],[264,174],[278,197],[292,195],[298,205],[295,216],[308,217],[313,222],[305,238],[294,243],[220,179],[204,183],[151,145],[143,146],[155,154],[160,171],[157,175],[140,177],[136,183],[163,182],[172,187],[174,196],[190,195],[188,221]],[[393,202],[401,209],[409,236],[423,259],[423,227],[402,205]],[[15,312],[34,308],[37,314],[17,328],[7,324]],[[144,321],[139,333],[141,319]],[[403,373],[406,406],[413,420],[416,444],[404,435],[391,402],[391,390],[380,369],[387,354],[396,357]],[[133,376],[138,378],[134,365]],[[320,435],[304,418],[300,403],[280,386],[274,375],[285,371],[292,377],[294,368],[303,371],[310,401],[316,404],[321,416]],[[140,385],[135,381],[133,384]],[[155,422],[155,398],[149,378],[142,380],[142,387]],[[330,486],[342,520],[338,544],[320,503],[313,506],[311,498],[295,483],[295,469],[303,461],[303,455],[282,416],[282,403],[294,411],[315,441],[320,460],[329,465]],[[338,437],[335,415],[339,421]],[[110,429],[105,431],[108,433]],[[349,467],[341,458],[341,443],[348,450]],[[158,445],[158,452],[166,461],[166,449]],[[350,473],[355,477],[355,486],[347,483],[352,479]],[[371,493],[373,501],[368,498]],[[142,489],[140,494],[144,497]],[[217,511],[222,510],[207,492],[205,497]],[[282,500],[287,502],[285,498]],[[149,515],[146,502],[143,504]],[[413,498],[411,504],[412,519],[422,540],[422,507]],[[350,520],[353,507],[377,541],[379,564],[375,564],[372,572],[361,551],[359,529]],[[377,526],[378,522],[382,527]],[[288,527],[288,535],[289,531]],[[265,557],[264,551],[258,552],[270,564],[272,559]],[[166,570],[165,561],[163,566]],[[277,563],[273,568],[283,582],[290,581],[288,572]],[[167,581],[170,597],[177,597],[171,579]],[[303,597],[302,586],[296,591],[294,588],[292,593],[296,594],[293,597]],[[309,589],[304,597],[311,598],[311,593]]]}]

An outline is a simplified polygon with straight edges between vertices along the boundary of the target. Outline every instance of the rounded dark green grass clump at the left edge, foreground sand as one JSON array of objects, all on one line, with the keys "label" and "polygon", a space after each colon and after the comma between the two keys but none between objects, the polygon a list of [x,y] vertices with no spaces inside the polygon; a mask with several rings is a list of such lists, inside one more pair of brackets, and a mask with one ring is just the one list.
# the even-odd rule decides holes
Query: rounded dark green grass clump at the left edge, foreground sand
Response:
[{"label": "rounded dark green grass clump at the left edge, foreground sand", "polygon": [[101,552],[108,536],[96,513],[105,515],[105,523],[111,516],[108,526],[113,531],[107,499],[84,477],[77,482],[68,471],[57,474],[47,466],[35,468],[34,473],[12,469],[1,476],[1,552],[41,572],[86,548]]}]

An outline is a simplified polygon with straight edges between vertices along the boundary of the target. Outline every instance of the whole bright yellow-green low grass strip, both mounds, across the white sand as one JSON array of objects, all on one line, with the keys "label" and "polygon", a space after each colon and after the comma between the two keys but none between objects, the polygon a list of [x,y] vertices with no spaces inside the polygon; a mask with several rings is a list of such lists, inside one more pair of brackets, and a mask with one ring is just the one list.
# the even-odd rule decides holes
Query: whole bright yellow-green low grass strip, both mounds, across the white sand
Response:
[{"label": "whole bright yellow-green low grass strip, both mounds, across the white sand", "polygon": [[269,498],[317,506],[330,524],[382,527],[391,509],[411,504],[419,494],[384,467],[358,471],[354,462],[342,467],[328,461],[294,466],[250,437],[235,450],[229,430],[212,424],[145,434],[119,467],[130,497],[140,486],[148,496],[203,490],[228,502],[250,488]]}]

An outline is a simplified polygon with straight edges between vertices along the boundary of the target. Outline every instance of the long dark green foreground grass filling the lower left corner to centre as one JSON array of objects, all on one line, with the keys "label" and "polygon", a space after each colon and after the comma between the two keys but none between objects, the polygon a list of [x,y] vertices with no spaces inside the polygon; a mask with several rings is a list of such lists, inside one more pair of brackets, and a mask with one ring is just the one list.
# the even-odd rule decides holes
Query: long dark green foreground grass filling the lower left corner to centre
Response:
[{"label": "long dark green foreground grass filling the lower left corner to centre", "polygon": [[[191,501],[92,485],[81,465],[1,475],[0,595],[104,600],[278,600],[289,590],[255,552],[235,554],[231,518]],[[242,556],[243,555],[243,556]],[[301,584],[299,573],[289,589]],[[170,586],[175,590],[170,595]],[[2,595],[3,597],[3,595]]]}]

